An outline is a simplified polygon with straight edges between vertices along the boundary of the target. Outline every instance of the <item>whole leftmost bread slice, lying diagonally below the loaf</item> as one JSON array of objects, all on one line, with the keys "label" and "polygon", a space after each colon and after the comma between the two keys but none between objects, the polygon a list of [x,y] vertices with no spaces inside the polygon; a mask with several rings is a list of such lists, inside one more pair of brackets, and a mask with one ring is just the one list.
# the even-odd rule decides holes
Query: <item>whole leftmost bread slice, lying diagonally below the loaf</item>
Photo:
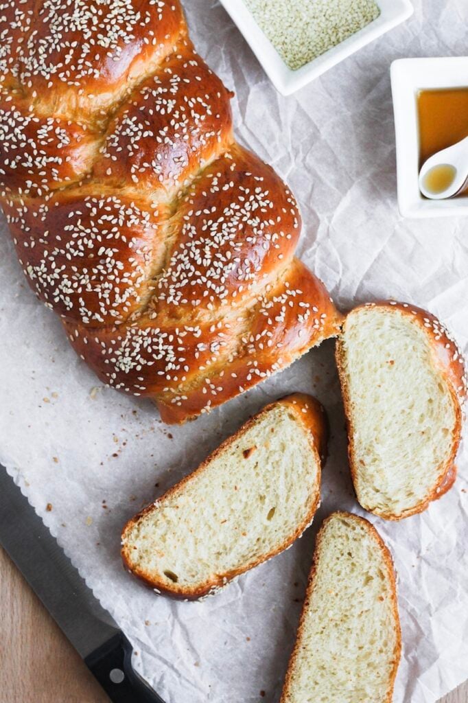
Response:
[{"label": "whole leftmost bread slice, lying diagonally below the loaf", "polygon": [[266,406],[126,524],[124,564],[156,591],[193,599],[280,553],[318,507],[326,434],[311,396]]}]

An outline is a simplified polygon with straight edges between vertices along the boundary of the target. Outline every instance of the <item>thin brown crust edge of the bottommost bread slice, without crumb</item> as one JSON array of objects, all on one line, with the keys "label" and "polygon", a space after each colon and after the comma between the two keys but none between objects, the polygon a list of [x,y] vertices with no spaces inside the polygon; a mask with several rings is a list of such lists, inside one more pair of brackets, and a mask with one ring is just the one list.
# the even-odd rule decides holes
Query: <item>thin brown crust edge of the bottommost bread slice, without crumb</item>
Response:
[{"label": "thin brown crust edge of the bottommost bread slice, without crumb", "polygon": [[[375,539],[377,546],[382,553],[382,557],[383,557],[383,560],[384,560],[384,563],[386,566],[386,570],[387,570],[386,577],[387,577],[387,580],[389,582],[389,587],[390,587],[391,610],[392,610],[393,620],[394,620],[394,630],[396,633],[396,647],[394,650],[394,666],[393,666],[393,670],[391,672],[391,677],[389,679],[389,688],[388,688],[385,699],[382,701],[379,701],[379,703],[391,703],[392,699],[393,699],[396,672],[398,671],[398,664],[400,663],[400,659],[401,659],[401,627],[400,627],[400,618],[398,615],[398,600],[397,600],[397,595],[396,595],[396,576],[395,576],[394,562],[391,558],[391,553],[389,551],[389,548],[387,548],[386,544],[382,540],[382,537],[379,535],[379,533],[377,532],[375,527],[372,525],[372,523],[370,523],[368,520],[365,520],[364,517],[354,515],[352,512],[345,512],[344,510],[338,510],[337,512],[333,512],[332,515],[329,515],[328,517],[325,518],[325,520],[323,521],[323,523],[320,527],[320,530],[318,531],[318,534],[317,534],[316,548],[313,553],[313,562],[312,562],[311,572],[308,576],[308,581],[307,581],[306,597],[304,599],[304,605],[303,605],[302,611],[301,611],[301,618],[299,620],[299,626],[297,628],[296,642],[294,644],[294,648],[293,648],[291,656],[290,656],[290,662],[287,666],[285,683],[282,688],[280,703],[290,703],[288,697],[290,695],[289,690],[290,690],[290,685],[292,683],[294,664],[296,662],[297,657],[299,657],[299,654],[301,651],[301,636],[302,636],[302,632],[304,630],[304,625],[305,625],[305,620],[306,620],[306,612],[308,610],[308,605],[311,601],[313,588],[315,586],[316,570],[317,570],[318,559],[320,557],[320,548],[321,548],[321,541],[323,539],[324,528],[325,528],[327,522],[329,522],[333,517],[337,517],[340,515],[343,517],[346,517],[347,520],[355,520],[356,522],[359,522],[360,524],[362,524],[365,527],[365,529],[372,536],[372,538]],[[377,702],[375,702],[375,703],[377,703]]]}]

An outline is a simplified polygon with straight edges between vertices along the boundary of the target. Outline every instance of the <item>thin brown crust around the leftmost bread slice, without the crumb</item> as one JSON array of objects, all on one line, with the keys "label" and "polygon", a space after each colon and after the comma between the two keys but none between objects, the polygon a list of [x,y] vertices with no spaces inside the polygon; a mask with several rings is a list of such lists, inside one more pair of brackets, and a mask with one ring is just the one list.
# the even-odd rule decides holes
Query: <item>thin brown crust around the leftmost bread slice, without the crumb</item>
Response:
[{"label": "thin brown crust around the leftmost bread slice, without the crumb", "polygon": [[236,576],[240,576],[240,574],[245,573],[249,569],[258,566],[259,564],[264,561],[267,561],[268,559],[271,559],[272,557],[292,545],[292,543],[299,536],[301,536],[301,534],[308,527],[308,525],[311,524],[313,516],[316,513],[320,501],[320,466],[323,463],[323,460],[325,460],[328,433],[327,418],[323,406],[321,406],[321,404],[312,396],[308,396],[302,393],[294,393],[285,396],[284,398],[279,399],[278,401],[275,401],[263,408],[259,413],[254,415],[253,418],[248,420],[245,425],[242,425],[238,432],[233,434],[231,437],[228,437],[228,439],[226,439],[226,441],[224,441],[223,444],[218,447],[218,449],[212,452],[193,473],[186,476],[184,479],[182,479],[181,482],[179,482],[175,486],[172,486],[169,491],[166,491],[166,493],[164,493],[160,498],[158,498],[156,503],[160,504],[165,499],[169,498],[169,496],[173,496],[175,493],[181,491],[181,489],[183,489],[183,486],[190,482],[190,480],[193,479],[195,475],[199,475],[201,472],[206,470],[209,463],[212,462],[212,460],[216,456],[219,456],[219,454],[225,451],[228,446],[238,441],[238,439],[242,437],[242,434],[244,434],[244,432],[248,430],[249,427],[252,427],[252,425],[257,423],[259,419],[261,419],[266,413],[276,408],[278,404],[287,405],[288,408],[290,408],[290,411],[294,413],[295,417],[297,418],[297,422],[301,423],[301,425],[303,425],[307,432],[310,434],[311,451],[316,456],[316,462],[318,466],[318,476],[315,486],[315,498],[309,506],[306,518],[301,524],[297,526],[297,529],[294,531],[294,534],[292,534],[290,538],[288,538],[285,542],[280,544],[278,548],[272,550],[271,553],[264,555],[261,559],[257,559],[246,565],[242,565],[242,567],[238,567],[238,569],[232,569],[230,572],[226,572],[224,574],[216,574],[216,576],[214,576],[213,579],[209,581],[209,583],[203,583],[198,588],[186,588],[177,583],[174,583],[173,586],[168,588],[167,583],[162,583],[154,576],[152,576],[148,572],[145,572],[145,570],[138,568],[138,566],[132,563],[131,548],[129,546],[127,547],[125,544],[126,534],[128,534],[129,530],[134,527],[134,525],[139,520],[141,520],[141,517],[152,512],[152,510],[154,509],[155,503],[151,503],[151,505],[148,505],[147,508],[144,508],[143,510],[141,510],[141,512],[138,512],[137,515],[132,517],[131,520],[126,523],[124,529],[122,530],[122,560],[124,562],[124,566],[126,567],[126,569],[129,570],[129,572],[131,572],[135,576],[138,576],[141,581],[146,583],[151,588],[155,589],[155,591],[157,592],[167,593],[168,595],[171,595],[174,598],[197,600],[198,598],[202,598],[203,596],[209,595],[210,593],[216,593],[216,591],[219,591],[220,588],[226,586],[226,583],[228,583],[232,579],[235,579]]}]

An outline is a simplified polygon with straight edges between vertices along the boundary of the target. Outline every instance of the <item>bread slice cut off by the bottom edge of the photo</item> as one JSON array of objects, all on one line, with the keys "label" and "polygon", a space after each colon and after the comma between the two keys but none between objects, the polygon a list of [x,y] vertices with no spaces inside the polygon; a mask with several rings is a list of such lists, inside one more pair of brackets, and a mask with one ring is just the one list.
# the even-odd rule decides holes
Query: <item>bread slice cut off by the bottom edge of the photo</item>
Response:
[{"label": "bread slice cut off by the bottom edge of the photo", "polygon": [[280,703],[391,703],[400,657],[389,550],[368,520],[334,512],[318,533]]}]

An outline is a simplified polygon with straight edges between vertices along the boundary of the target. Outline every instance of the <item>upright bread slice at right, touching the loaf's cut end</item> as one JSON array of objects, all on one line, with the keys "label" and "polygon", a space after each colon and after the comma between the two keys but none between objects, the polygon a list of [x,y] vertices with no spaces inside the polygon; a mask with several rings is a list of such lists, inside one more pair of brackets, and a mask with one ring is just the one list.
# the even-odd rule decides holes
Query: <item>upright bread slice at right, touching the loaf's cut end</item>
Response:
[{"label": "upright bread slice at right, touching the loaf's cut end", "polygon": [[346,317],[337,364],[359,503],[387,520],[425,510],[455,481],[466,395],[455,342],[420,308],[372,303]]}]

